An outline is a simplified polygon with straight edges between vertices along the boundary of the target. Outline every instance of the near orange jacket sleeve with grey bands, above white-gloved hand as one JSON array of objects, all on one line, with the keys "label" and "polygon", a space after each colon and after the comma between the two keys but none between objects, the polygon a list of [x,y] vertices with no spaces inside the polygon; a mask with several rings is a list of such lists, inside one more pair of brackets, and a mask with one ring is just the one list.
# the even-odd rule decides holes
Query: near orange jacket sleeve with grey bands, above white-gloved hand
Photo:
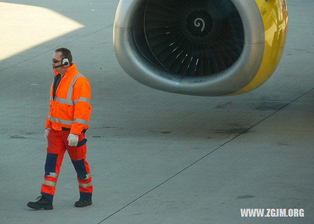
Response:
[{"label": "near orange jacket sleeve with grey bands, above white-gloved hand", "polygon": [[90,105],[90,85],[87,78],[78,77],[73,85],[74,119],[71,133],[79,135],[83,129],[87,129],[89,117],[92,112]]}]

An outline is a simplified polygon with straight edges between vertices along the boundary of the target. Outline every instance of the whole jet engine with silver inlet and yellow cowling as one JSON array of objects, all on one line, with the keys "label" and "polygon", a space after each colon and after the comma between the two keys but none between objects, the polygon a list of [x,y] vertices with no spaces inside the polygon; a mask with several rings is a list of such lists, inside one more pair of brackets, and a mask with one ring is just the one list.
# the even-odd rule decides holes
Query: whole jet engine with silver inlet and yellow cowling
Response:
[{"label": "whole jet engine with silver inlet and yellow cowling", "polygon": [[144,85],[225,96],[273,74],[287,29],[285,0],[120,0],[113,44],[124,71]]}]

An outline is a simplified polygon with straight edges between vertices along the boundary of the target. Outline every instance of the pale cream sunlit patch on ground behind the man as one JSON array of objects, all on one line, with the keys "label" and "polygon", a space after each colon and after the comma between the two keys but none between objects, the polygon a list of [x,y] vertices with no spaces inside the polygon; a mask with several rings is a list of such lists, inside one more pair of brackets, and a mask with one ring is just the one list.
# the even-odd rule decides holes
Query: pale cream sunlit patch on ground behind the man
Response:
[{"label": "pale cream sunlit patch on ground behind the man", "polygon": [[0,2],[0,60],[84,25],[51,9]]}]

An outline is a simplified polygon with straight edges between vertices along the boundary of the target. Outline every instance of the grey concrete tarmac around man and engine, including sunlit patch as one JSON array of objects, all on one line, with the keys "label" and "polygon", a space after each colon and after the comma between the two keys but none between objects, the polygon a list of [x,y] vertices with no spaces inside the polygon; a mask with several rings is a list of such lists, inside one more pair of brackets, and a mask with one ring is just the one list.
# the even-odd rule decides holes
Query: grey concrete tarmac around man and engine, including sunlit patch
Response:
[{"label": "grey concrete tarmac around man and engine, including sunlit patch", "polygon": [[[112,46],[118,0],[0,2],[0,224],[313,224],[314,1],[287,3],[274,75],[248,94],[210,98],[160,92],[124,73]],[[53,210],[32,210],[58,47],[72,51],[92,89],[93,204],[74,207],[66,153]],[[304,217],[242,218],[241,208],[304,209]]]}]

